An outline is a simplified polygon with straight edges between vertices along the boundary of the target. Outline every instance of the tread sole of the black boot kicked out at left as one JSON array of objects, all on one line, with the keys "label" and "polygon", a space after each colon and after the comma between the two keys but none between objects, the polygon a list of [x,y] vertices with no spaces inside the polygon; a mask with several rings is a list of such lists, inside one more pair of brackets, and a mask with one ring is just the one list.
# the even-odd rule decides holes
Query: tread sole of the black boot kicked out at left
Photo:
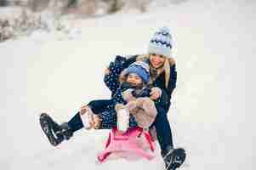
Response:
[{"label": "tread sole of the black boot kicked out at left", "polygon": [[50,119],[51,118],[46,113],[42,113],[39,118],[40,125],[42,127],[43,133],[45,133],[45,135],[47,136],[50,144],[56,146],[56,145],[60,144],[60,142],[58,142],[57,139],[55,139],[54,133],[52,133],[52,130],[54,127],[50,123]]}]

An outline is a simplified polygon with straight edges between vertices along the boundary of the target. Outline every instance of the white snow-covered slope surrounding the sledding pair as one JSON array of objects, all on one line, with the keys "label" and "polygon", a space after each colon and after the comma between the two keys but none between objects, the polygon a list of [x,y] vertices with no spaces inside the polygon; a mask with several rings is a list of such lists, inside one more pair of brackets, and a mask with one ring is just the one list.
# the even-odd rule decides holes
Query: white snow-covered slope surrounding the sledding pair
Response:
[{"label": "white snow-covered slope surrounding the sledding pair", "polygon": [[0,43],[1,169],[161,170],[159,156],[95,163],[108,131],[82,130],[53,148],[38,124],[42,111],[65,122],[82,103],[108,99],[105,66],[116,54],[146,53],[161,26],[174,36],[178,84],[169,120],[175,145],[188,153],[181,169],[255,169],[255,8],[248,0],[152,4],[146,14],[71,21],[68,37],[37,31]]}]

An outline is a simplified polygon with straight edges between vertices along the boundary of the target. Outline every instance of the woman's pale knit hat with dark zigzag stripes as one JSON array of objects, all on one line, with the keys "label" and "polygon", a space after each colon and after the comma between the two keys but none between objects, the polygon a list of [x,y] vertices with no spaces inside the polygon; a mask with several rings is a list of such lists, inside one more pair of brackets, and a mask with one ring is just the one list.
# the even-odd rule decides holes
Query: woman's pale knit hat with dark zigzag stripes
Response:
[{"label": "woman's pale knit hat with dark zigzag stripes", "polygon": [[148,47],[149,54],[162,54],[170,57],[172,49],[172,36],[168,27],[162,27],[151,37]]}]

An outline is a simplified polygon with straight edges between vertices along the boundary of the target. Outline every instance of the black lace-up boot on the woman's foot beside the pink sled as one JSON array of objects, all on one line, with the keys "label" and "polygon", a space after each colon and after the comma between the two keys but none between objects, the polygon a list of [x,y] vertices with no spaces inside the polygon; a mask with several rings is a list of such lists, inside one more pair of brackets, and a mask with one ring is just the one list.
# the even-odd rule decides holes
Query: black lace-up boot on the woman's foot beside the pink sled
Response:
[{"label": "black lace-up boot on the woman's foot beside the pink sled", "polygon": [[162,150],[161,154],[166,170],[175,170],[185,161],[185,150],[183,148],[168,147],[166,150]]}]

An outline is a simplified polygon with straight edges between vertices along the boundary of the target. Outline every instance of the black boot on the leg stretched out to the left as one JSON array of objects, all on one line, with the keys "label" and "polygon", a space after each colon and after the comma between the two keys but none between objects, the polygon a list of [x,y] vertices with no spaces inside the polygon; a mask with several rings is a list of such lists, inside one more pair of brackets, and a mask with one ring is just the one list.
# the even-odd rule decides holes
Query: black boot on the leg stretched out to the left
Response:
[{"label": "black boot on the leg stretched out to the left", "polygon": [[40,115],[40,125],[50,144],[54,146],[60,144],[64,139],[70,139],[73,135],[71,127],[66,122],[59,125],[46,113]]}]

